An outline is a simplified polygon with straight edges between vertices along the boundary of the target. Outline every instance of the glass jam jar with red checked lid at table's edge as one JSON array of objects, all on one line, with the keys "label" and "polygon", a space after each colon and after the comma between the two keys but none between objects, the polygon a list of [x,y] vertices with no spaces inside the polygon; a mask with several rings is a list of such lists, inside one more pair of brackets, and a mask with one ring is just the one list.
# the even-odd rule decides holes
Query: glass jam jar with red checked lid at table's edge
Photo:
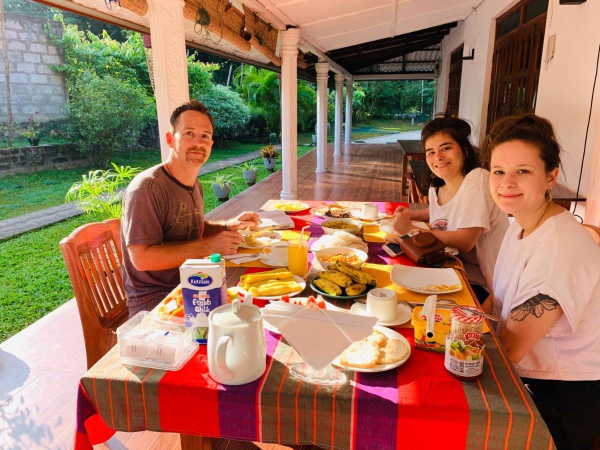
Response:
[{"label": "glass jam jar with red checked lid at table's edge", "polygon": [[446,370],[459,380],[475,380],[484,369],[484,317],[475,307],[452,308],[450,332],[446,335]]}]

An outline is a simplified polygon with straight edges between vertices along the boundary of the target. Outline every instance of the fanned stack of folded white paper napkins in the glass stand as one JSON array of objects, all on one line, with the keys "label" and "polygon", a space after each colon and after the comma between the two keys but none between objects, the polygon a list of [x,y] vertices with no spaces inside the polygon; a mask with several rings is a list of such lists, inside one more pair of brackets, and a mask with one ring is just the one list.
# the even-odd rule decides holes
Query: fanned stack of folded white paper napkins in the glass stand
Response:
[{"label": "fanned stack of folded white paper napkins in the glass stand", "polygon": [[350,344],[370,335],[377,322],[376,317],[323,310],[314,304],[271,302],[261,313],[313,370],[326,367]]}]

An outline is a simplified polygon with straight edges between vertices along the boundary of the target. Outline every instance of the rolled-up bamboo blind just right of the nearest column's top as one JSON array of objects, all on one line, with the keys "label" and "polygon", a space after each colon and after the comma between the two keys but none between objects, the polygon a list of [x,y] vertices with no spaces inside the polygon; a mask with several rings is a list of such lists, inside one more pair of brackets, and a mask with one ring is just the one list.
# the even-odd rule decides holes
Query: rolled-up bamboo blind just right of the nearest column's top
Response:
[{"label": "rolled-up bamboo blind just right of the nearest column's top", "polygon": [[185,0],[184,17],[194,22],[194,31],[202,37],[202,45],[218,45],[224,39],[250,52],[250,43],[239,33],[244,15],[228,0]]}]

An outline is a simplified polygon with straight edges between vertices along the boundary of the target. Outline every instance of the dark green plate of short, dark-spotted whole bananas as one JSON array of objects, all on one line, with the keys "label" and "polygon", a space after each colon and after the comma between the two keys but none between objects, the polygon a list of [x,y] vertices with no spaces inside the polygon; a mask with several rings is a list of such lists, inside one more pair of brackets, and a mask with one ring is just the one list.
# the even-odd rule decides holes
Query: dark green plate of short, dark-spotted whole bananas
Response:
[{"label": "dark green plate of short, dark-spotted whole bananas", "polygon": [[314,292],[325,297],[346,300],[361,298],[376,286],[377,280],[373,275],[343,261],[338,261],[329,266],[328,270],[319,272],[310,282]]}]

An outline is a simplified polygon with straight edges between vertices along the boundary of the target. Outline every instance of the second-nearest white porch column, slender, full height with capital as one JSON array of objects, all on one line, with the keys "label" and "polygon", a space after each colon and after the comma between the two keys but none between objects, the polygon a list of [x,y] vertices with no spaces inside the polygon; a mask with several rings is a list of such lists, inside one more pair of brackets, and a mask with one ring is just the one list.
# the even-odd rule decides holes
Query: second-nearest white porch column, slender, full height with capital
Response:
[{"label": "second-nearest white porch column, slender, full height with capital", "polygon": [[282,200],[298,198],[296,159],[298,158],[298,40],[300,30],[280,31],[281,47],[281,194]]}]

